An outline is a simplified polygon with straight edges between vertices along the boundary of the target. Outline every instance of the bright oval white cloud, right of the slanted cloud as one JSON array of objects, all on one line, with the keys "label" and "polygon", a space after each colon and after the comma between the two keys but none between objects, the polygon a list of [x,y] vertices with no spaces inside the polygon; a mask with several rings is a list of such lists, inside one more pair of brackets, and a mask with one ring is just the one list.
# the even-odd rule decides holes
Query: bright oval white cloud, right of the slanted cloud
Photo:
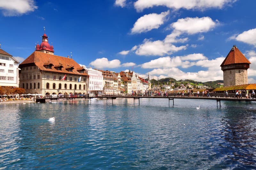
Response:
[{"label": "bright oval white cloud, right of the slanted cloud", "polygon": [[178,19],[177,22],[172,23],[172,27],[175,30],[185,32],[188,34],[196,34],[207,32],[211,28],[215,27],[217,23],[215,23],[210,17],[202,17],[202,18],[182,18]]}]

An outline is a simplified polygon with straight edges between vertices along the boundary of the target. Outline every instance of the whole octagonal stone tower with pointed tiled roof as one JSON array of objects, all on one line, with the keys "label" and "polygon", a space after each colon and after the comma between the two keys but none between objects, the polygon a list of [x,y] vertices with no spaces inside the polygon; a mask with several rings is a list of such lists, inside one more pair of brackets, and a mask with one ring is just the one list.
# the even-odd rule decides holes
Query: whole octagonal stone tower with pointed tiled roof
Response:
[{"label": "whole octagonal stone tower with pointed tiled roof", "polygon": [[234,45],[220,65],[224,86],[248,84],[247,69],[250,68],[250,64],[250,61]]}]

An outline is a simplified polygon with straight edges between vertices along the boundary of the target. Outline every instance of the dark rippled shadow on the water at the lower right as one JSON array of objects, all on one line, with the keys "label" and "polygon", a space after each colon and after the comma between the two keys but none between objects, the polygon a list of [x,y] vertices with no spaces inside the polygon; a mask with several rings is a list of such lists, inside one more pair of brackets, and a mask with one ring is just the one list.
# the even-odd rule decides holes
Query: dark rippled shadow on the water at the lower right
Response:
[{"label": "dark rippled shadow on the water at the lower right", "polygon": [[[227,167],[256,167],[256,108],[253,102],[223,102],[220,153]],[[225,166],[224,166],[225,167]],[[220,168],[219,165],[213,168]],[[223,168],[223,167],[222,167]]]}]

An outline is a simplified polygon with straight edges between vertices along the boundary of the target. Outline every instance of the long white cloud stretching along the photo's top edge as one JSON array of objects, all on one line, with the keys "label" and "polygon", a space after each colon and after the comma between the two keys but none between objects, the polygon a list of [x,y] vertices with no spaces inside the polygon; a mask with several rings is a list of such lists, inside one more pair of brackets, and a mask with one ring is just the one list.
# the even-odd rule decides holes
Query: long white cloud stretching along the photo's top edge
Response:
[{"label": "long white cloud stretching along the photo's top edge", "polygon": [[[235,0],[236,1],[236,0]],[[134,3],[135,9],[140,12],[153,6],[167,6],[173,9],[185,8],[205,10],[207,8],[222,8],[225,4],[235,2],[233,0],[138,0]]]}]

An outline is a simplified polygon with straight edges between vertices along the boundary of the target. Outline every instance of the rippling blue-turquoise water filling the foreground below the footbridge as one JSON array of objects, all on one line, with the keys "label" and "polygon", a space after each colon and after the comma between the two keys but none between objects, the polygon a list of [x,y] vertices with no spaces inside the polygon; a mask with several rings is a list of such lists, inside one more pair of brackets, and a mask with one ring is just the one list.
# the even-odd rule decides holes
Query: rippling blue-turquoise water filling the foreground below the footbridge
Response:
[{"label": "rippling blue-turquoise water filling the foreground below the footbridge", "polygon": [[0,169],[255,169],[255,104],[0,104]]}]

